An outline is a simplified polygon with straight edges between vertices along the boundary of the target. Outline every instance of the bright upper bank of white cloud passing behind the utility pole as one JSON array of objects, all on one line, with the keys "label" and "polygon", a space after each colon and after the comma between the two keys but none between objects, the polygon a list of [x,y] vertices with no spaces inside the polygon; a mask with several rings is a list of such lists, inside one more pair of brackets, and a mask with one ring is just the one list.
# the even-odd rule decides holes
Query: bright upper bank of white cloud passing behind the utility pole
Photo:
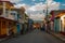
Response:
[{"label": "bright upper bank of white cloud passing behind the utility pole", "polygon": [[[55,2],[53,0],[47,0],[47,1],[48,1],[49,10],[58,10],[60,9],[60,3],[58,2]],[[43,4],[42,2],[35,3],[35,5],[30,6],[29,10],[31,10],[31,11],[46,10],[47,9],[47,1],[46,1],[46,4]]]}]

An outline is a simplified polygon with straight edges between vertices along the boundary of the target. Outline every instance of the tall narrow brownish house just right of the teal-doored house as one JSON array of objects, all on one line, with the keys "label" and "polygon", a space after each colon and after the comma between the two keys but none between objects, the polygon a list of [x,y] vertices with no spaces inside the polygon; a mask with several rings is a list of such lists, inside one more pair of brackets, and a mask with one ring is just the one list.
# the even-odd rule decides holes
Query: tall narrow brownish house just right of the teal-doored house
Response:
[{"label": "tall narrow brownish house just right of the teal-doored house", "polygon": [[21,16],[22,16],[22,33],[26,33],[26,30],[28,28],[28,16],[25,13],[25,8],[21,8]]}]

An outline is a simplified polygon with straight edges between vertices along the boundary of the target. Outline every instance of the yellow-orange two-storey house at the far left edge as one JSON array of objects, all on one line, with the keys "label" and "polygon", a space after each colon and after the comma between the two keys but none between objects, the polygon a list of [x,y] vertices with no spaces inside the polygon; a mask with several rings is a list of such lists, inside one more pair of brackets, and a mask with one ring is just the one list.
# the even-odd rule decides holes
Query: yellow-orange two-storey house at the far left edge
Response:
[{"label": "yellow-orange two-storey house at the far left edge", "polygon": [[[10,10],[13,4],[10,1],[0,1],[0,38],[16,33],[16,20]],[[12,18],[13,17],[13,18]]]}]

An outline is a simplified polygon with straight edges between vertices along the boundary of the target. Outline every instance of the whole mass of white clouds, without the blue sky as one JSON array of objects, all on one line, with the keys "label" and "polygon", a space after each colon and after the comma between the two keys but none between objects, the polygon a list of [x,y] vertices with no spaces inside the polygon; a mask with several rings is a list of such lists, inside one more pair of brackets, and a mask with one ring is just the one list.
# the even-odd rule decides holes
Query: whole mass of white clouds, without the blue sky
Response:
[{"label": "whole mass of white clouds, without the blue sky", "polygon": [[[14,2],[18,2],[20,0],[14,0]],[[32,0],[36,1],[36,0]],[[46,3],[35,3],[35,5],[29,6],[28,4],[16,4],[14,5],[15,8],[21,8],[24,6],[26,9],[26,13],[30,14],[30,18],[32,18],[34,20],[42,20],[43,16],[46,15],[43,13],[43,10],[47,9],[47,2],[48,2],[48,8],[49,8],[49,12],[51,10],[58,10],[60,9],[60,3],[55,2],[53,0],[47,0]],[[41,13],[41,14],[40,14]]]}]

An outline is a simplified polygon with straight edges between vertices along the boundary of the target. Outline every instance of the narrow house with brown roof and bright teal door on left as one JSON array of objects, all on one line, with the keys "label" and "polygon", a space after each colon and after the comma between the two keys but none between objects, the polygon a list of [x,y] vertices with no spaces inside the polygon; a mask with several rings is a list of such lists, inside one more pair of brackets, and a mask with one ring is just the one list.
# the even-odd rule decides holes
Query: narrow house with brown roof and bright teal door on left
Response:
[{"label": "narrow house with brown roof and bright teal door on left", "polygon": [[17,23],[16,23],[16,29],[17,29],[17,34],[20,34],[21,33],[21,30],[22,30],[22,22],[23,22],[23,19],[22,19],[22,13],[21,13],[21,9],[16,9],[16,8],[12,8],[11,9],[11,11],[13,12],[15,12],[15,13],[13,13],[13,15],[15,15],[16,17],[15,17],[15,19],[17,20]]}]

